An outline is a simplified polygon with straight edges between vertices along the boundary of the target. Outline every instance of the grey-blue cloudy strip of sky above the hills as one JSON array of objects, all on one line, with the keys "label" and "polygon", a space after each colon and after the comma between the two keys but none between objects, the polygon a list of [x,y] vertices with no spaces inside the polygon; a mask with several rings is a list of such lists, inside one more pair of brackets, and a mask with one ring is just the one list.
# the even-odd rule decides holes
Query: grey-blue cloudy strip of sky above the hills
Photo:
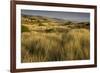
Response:
[{"label": "grey-blue cloudy strip of sky above the hills", "polygon": [[38,15],[50,18],[59,18],[69,21],[87,22],[90,21],[90,13],[61,12],[61,11],[40,11],[40,10],[21,10],[24,15]]}]

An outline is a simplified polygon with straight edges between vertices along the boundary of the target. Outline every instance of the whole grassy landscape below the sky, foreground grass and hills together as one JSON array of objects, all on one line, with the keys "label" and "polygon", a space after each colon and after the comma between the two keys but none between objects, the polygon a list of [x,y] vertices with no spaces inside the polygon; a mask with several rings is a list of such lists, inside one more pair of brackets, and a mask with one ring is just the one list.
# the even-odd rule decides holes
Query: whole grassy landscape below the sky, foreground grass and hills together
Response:
[{"label": "whole grassy landscape below the sky, foreground grass and hills together", "polygon": [[90,58],[90,24],[44,16],[21,17],[21,62]]}]

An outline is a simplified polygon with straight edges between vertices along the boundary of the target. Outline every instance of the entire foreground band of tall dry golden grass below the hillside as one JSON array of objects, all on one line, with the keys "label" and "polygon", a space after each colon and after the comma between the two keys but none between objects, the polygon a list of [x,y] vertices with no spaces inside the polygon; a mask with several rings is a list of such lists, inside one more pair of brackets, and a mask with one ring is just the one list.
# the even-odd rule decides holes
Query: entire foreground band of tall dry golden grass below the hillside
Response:
[{"label": "entire foreground band of tall dry golden grass below the hillside", "polygon": [[68,33],[22,33],[22,62],[89,59],[90,39],[87,29]]}]

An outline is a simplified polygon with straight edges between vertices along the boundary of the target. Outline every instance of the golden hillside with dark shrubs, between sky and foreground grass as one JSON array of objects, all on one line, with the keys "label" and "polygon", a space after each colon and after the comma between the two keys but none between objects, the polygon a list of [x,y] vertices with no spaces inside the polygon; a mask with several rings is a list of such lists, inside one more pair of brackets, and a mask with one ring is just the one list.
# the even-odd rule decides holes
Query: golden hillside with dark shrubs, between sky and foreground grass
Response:
[{"label": "golden hillside with dark shrubs, between sky and foreground grass", "polygon": [[75,22],[75,21],[68,21],[59,18],[50,18],[50,17],[38,16],[38,15],[34,15],[34,16],[22,15],[21,25],[24,28],[23,29],[24,31],[29,29],[33,31],[53,30],[53,31],[62,32],[62,31],[67,31],[69,29],[75,29],[75,28],[90,29],[89,22]]}]

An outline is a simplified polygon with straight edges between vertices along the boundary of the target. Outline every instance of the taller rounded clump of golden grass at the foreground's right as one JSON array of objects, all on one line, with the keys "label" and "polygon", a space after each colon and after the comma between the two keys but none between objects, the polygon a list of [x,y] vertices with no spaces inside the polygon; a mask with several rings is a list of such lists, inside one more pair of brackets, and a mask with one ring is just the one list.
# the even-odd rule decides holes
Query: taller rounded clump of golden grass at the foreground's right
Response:
[{"label": "taller rounded clump of golden grass at the foreground's right", "polygon": [[90,33],[87,29],[73,29],[63,35],[68,60],[89,59]]}]

